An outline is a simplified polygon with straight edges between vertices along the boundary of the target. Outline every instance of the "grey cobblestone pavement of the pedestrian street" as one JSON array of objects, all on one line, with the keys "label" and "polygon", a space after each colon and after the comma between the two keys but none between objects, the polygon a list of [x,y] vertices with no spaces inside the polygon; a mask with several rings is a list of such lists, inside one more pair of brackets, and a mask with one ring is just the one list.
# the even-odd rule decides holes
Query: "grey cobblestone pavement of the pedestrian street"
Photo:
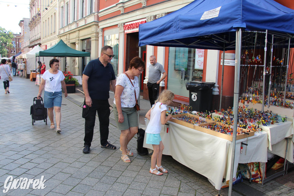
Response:
[{"label": "grey cobblestone pavement of the pedestrian street", "polygon": [[[151,158],[136,152],[136,138],[129,147],[134,156],[131,163],[121,160],[120,131],[113,113],[109,125],[109,141],[117,150],[100,147],[99,122],[90,154],[83,154],[84,119],[81,117],[81,93],[63,98],[61,107],[61,133],[50,129],[50,121],[31,124],[30,106],[39,87],[29,79],[13,77],[10,94],[0,93],[0,195],[217,195],[207,178],[163,155],[162,165],[169,171],[163,176],[149,173]],[[80,88],[81,89],[81,88]],[[113,94],[109,99],[113,100]],[[141,99],[141,114],[150,107]],[[48,118],[49,120],[49,118]],[[140,127],[145,127],[140,116]],[[183,144],[184,145],[184,144]],[[195,163],[197,164],[197,163]],[[205,166],[203,166],[205,167]],[[40,179],[44,176],[44,189],[15,189],[3,193],[8,176],[14,179]],[[228,188],[221,190],[228,195]],[[233,187],[232,195],[294,195],[294,172],[272,180],[265,185],[248,181]]]}]

